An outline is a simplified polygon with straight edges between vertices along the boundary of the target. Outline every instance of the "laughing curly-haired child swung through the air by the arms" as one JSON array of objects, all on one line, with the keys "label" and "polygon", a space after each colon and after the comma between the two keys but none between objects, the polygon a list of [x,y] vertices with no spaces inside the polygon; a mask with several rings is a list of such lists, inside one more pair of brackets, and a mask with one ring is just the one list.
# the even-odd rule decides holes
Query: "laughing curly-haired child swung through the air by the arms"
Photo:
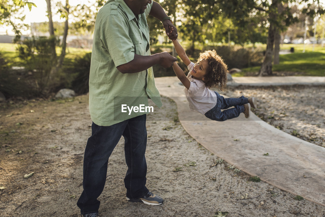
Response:
[{"label": "laughing curly-haired child swung through the air by the arms", "polygon": [[[225,121],[235,118],[244,113],[249,118],[251,107],[256,108],[256,99],[245,98],[224,98],[209,88],[213,85],[224,90],[227,83],[227,65],[223,62],[215,50],[206,50],[200,53],[197,63],[189,60],[184,48],[178,40],[173,40],[173,44],[178,56],[187,65],[189,73],[185,76],[183,70],[176,62],[173,69],[178,79],[185,86],[184,92],[189,102],[191,111],[198,111],[206,117],[216,120]],[[234,106],[234,108],[227,109]],[[221,111],[221,109],[227,109]]]}]

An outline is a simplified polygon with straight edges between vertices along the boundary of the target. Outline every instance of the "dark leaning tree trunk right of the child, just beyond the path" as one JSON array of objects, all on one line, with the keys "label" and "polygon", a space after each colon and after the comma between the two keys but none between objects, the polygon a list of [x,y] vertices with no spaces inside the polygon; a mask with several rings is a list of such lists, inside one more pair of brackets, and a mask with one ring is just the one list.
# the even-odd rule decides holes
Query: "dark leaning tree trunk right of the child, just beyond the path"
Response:
[{"label": "dark leaning tree trunk right of the child, just beyond the path", "polygon": [[264,61],[262,63],[259,76],[262,75],[272,75],[272,57],[273,57],[273,45],[274,45],[274,34],[275,29],[273,23],[270,23],[267,36],[267,45]]}]

